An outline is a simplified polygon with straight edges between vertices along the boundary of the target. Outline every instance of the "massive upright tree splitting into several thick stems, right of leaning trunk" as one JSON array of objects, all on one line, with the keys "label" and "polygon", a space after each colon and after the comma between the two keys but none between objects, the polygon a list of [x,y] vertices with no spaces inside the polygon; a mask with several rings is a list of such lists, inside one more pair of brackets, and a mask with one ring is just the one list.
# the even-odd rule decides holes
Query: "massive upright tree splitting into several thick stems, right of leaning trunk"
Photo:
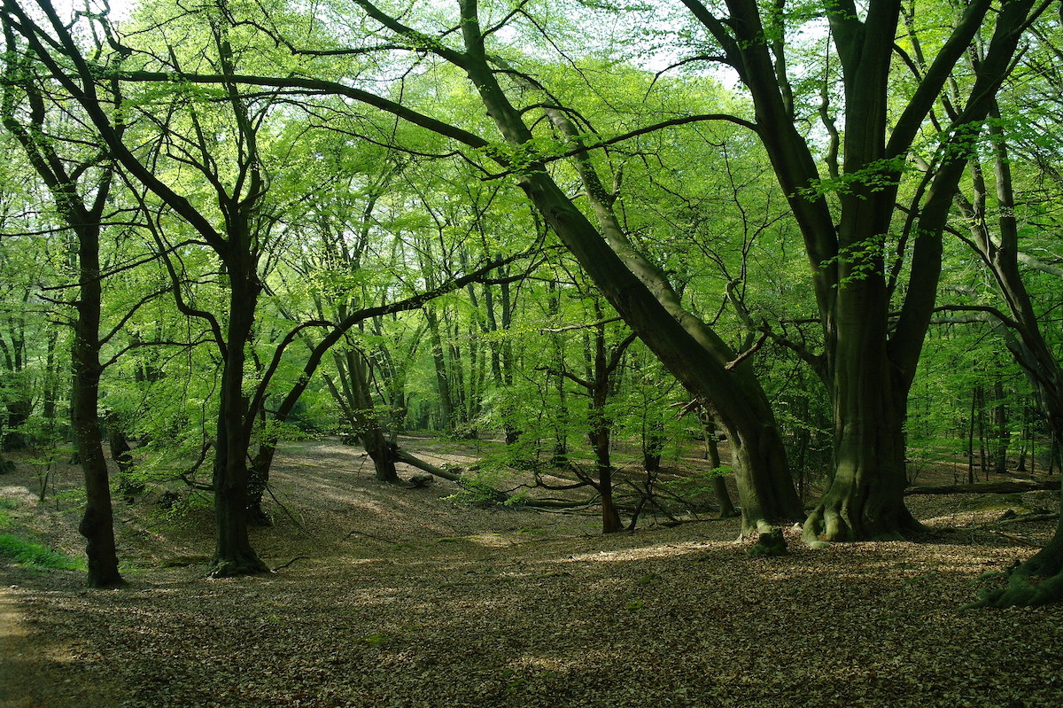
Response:
[{"label": "massive upright tree splitting into several thick stems, right of leaning trunk", "polygon": [[[830,484],[806,522],[805,538],[902,536],[918,527],[902,500],[904,423],[933,310],[942,232],[973,137],[1024,31],[1048,3],[1015,0],[990,13],[989,0],[976,0],[935,47],[914,29],[916,5],[899,0],[861,6],[843,0],[811,12],[791,11],[784,2],[728,0],[724,15],[698,0],[684,4],[749,92],[753,130],[787,195],[812,268],[825,348],[808,359],[833,402],[834,452]],[[799,130],[802,106],[788,65],[790,33],[819,17],[827,20],[834,62],[824,67],[823,82],[840,83],[844,129],[825,88],[820,114],[829,144],[822,163]],[[913,172],[921,131],[957,63],[989,28],[984,55],[965,83],[968,89],[957,97],[961,107],[940,125],[932,157]],[[896,60],[898,33],[919,48],[907,67]],[[902,97],[891,90],[898,70],[914,80]],[[909,173],[915,184],[902,190]],[[904,210],[899,200],[908,202]]]}]

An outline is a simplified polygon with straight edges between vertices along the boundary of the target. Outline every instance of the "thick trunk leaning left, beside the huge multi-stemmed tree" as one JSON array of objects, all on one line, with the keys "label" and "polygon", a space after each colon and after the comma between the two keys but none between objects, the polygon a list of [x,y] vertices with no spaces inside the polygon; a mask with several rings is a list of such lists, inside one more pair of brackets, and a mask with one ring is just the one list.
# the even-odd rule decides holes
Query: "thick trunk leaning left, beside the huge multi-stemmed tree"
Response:
[{"label": "thick trunk leaning left, beside the huge multi-stemmed tree", "polygon": [[[509,102],[488,62],[476,3],[461,0],[459,5],[466,51],[458,63],[503,138],[523,149],[533,141],[532,131],[522,113]],[[388,22],[386,18],[383,21]],[[562,112],[545,112],[554,127],[578,147],[577,131]],[[804,519],[775,416],[749,363],[735,360],[726,343],[682,307],[660,269],[630,247],[589,155],[577,150],[574,165],[601,231],[561,190],[543,164],[521,167],[518,184],[639,338],[691,393],[715,409],[733,441],[743,533],[773,522]]]}]

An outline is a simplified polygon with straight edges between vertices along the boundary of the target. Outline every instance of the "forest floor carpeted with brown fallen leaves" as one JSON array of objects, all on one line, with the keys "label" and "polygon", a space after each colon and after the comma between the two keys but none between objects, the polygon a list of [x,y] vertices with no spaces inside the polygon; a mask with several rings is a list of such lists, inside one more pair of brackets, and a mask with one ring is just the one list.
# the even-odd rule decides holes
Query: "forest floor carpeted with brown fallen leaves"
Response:
[{"label": "forest floor carpeted with brown fallen leaves", "polygon": [[[53,466],[43,503],[38,473],[0,475],[0,535],[79,555],[79,471]],[[995,520],[1056,492],[909,496],[918,542],[813,551],[791,529],[789,555],[754,558],[733,519],[602,536],[591,511],[382,485],[338,443],[287,444],[272,485],[286,510],[252,532],[270,575],[206,579],[212,512],[150,499],[116,503],[126,588],[0,558],[0,705],[1063,705],[1063,606],[961,609],[1054,526]]]}]

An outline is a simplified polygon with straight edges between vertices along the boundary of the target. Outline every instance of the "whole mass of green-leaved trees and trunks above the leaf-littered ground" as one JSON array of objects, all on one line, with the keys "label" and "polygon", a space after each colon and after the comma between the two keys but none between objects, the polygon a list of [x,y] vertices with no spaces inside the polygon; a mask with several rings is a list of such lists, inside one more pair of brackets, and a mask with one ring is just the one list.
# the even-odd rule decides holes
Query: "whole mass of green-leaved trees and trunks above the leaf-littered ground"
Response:
[{"label": "whole mass of green-leaved trees and trunks above the leaf-littered ground", "polygon": [[75,442],[102,585],[111,482],[265,570],[299,436],[494,440],[612,532],[721,433],[745,533],[917,533],[924,470],[1060,468],[1050,4],[4,0],[3,449]]}]

